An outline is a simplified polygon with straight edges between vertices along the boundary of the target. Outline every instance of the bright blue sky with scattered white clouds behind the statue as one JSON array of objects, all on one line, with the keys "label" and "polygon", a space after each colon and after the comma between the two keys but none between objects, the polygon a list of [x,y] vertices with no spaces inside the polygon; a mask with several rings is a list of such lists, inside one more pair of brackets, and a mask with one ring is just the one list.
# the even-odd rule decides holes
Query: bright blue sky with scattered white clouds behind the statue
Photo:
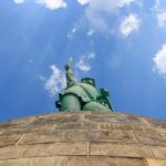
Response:
[{"label": "bright blue sky with scattered white clouds behind the statue", "polygon": [[166,120],[165,0],[0,0],[0,122],[58,112],[69,60],[115,112]]}]

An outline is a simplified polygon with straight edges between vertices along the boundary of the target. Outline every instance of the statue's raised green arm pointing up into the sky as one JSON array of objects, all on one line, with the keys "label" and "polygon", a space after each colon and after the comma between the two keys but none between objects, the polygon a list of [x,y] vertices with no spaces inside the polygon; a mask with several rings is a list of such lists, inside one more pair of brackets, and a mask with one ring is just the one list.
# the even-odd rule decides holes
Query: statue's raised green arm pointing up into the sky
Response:
[{"label": "statue's raised green arm pointing up into the sky", "polygon": [[71,69],[70,62],[65,64],[64,68],[65,68],[66,87],[70,87],[76,83],[75,76]]}]

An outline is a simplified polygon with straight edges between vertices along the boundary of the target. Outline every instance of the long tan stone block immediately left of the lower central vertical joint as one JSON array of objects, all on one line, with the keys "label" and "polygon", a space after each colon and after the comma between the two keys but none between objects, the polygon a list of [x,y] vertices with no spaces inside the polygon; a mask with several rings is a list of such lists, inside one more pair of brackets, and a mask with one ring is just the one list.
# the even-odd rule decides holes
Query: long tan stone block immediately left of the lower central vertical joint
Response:
[{"label": "long tan stone block immediately left of the lower central vertical joint", "polygon": [[63,155],[87,155],[86,143],[55,143],[31,145],[24,153],[25,157]]}]

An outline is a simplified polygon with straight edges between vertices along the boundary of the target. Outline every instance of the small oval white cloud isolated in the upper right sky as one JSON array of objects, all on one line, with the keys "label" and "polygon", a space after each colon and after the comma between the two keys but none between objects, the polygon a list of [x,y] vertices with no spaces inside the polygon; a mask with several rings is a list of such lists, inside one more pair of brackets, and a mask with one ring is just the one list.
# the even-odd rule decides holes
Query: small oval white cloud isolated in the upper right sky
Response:
[{"label": "small oval white cloud isolated in the upper right sky", "polygon": [[120,32],[124,37],[129,35],[133,31],[136,31],[139,27],[139,19],[136,14],[131,13],[127,18],[125,18],[120,27]]}]

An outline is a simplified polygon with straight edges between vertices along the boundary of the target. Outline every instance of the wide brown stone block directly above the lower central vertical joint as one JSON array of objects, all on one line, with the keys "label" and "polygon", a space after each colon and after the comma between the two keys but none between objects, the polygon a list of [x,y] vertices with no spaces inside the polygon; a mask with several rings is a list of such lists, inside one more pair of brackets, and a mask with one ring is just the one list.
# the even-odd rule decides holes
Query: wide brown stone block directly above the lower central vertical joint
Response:
[{"label": "wide brown stone block directly above the lower central vertical joint", "polygon": [[63,134],[63,142],[112,142],[136,143],[132,132],[120,131],[68,131]]}]

